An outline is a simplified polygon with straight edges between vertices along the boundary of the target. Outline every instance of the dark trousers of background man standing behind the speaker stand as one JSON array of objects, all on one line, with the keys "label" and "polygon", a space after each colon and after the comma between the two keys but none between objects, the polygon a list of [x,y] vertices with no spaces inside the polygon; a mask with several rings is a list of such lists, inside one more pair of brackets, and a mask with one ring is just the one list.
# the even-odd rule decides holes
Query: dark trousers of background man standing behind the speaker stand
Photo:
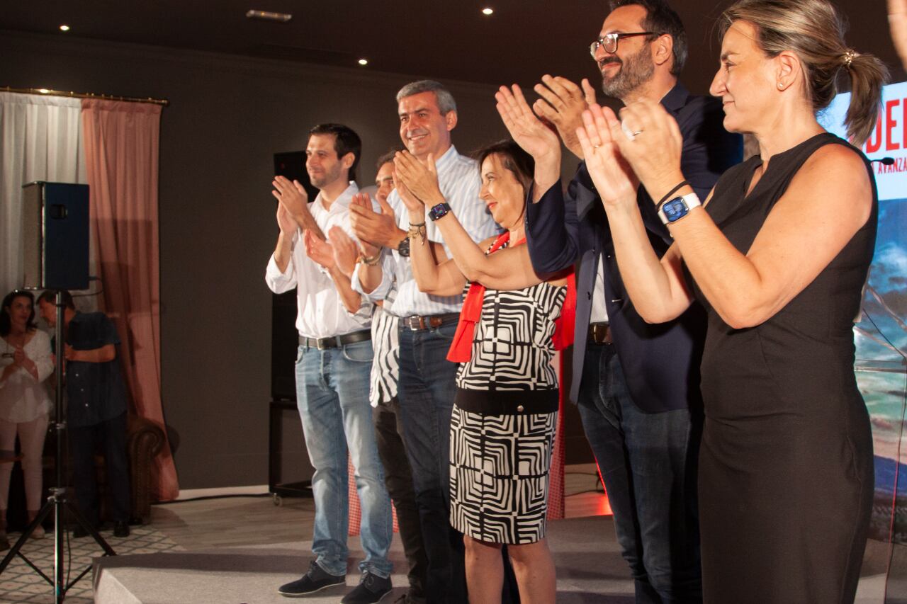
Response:
[{"label": "dark trousers of background man standing behind the speaker stand", "polygon": [[99,445],[104,455],[107,492],[110,493],[111,519],[129,521],[129,464],[126,462],[126,412],[100,424],[68,428],[73,459],[73,486],[79,511],[87,521],[99,526],[97,472],[94,453]]}]

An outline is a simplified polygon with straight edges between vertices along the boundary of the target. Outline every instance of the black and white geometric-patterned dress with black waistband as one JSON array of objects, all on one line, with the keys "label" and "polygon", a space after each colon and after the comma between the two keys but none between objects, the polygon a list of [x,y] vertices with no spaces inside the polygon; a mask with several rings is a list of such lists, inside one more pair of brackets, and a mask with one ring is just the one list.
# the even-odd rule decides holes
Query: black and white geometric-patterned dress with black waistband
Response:
[{"label": "black and white geometric-patterned dress with black waistband", "polygon": [[567,287],[485,291],[451,419],[451,524],[473,539],[545,536],[558,414],[554,320]]}]

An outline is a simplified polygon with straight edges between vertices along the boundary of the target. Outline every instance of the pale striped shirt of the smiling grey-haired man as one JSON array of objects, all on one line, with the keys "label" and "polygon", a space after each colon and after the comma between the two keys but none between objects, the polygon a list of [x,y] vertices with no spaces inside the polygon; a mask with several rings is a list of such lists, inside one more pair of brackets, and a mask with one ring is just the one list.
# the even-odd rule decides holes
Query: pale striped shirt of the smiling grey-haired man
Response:
[{"label": "pale striped shirt of the smiling grey-haired man", "polygon": [[[479,175],[479,165],[464,155],[460,155],[451,145],[444,155],[435,161],[438,171],[438,184],[444,200],[450,204],[453,215],[463,225],[473,241],[479,242],[488,239],[500,232],[494,223],[491,213],[485,207],[483,200],[479,199],[479,190],[482,188],[482,179]],[[400,199],[400,195],[393,191],[387,198],[387,203],[394,209],[397,226],[400,229],[409,229],[409,212]],[[441,231],[430,219],[425,221],[425,230],[428,239],[441,243],[447,257],[451,258],[450,248],[444,243]],[[411,246],[419,245],[417,239],[410,243]],[[382,258],[381,285],[367,297],[373,300],[384,299],[396,283],[396,297],[389,308],[397,317],[410,317],[413,315],[444,315],[445,313],[458,313],[463,307],[463,296],[432,296],[419,291],[413,278],[413,268],[409,258],[400,256],[396,249],[384,250]],[[359,283],[358,271],[353,274],[353,288],[362,293]]]}]

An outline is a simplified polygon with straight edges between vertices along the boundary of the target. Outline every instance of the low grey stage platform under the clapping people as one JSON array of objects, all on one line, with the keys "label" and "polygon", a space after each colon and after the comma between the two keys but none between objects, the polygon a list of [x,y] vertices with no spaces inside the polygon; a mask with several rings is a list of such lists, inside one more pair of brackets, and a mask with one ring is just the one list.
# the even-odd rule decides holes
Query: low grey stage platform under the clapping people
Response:
[{"label": "low grey stage platform under the clapping people", "polygon": [[[609,517],[592,516],[553,521],[549,539],[557,564],[558,602],[631,604],[633,584],[627,577]],[[349,540],[350,569],[347,588],[325,589],[306,602],[336,604],[356,585],[361,560],[357,538]],[[878,544],[882,545],[882,544]],[[277,587],[296,580],[308,567],[307,542],[170,551],[102,558],[94,563],[96,604],[286,604]],[[868,551],[872,555],[872,550]],[[406,586],[405,560],[399,539],[391,552],[395,563],[395,592],[383,602],[393,602]],[[867,560],[869,561],[869,560]],[[884,577],[872,572],[860,584],[857,602],[882,604]],[[296,601],[301,601],[296,600]]]}]

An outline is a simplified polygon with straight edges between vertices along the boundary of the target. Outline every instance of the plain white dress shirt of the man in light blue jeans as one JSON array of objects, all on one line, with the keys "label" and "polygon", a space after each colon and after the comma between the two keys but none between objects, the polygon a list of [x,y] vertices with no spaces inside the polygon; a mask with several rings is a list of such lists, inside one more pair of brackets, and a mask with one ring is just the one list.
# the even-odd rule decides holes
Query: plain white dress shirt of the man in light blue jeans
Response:
[{"label": "plain white dress shirt of the man in light blue jeans", "polygon": [[[312,218],[327,236],[328,230],[339,226],[351,238],[356,239],[349,221],[349,202],[359,188],[350,181],[349,187],[341,193],[330,209],[325,209],[321,193],[308,204]],[[282,294],[296,287],[297,317],[296,328],[300,336],[331,337],[343,336],[354,331],[368,329],[371,302],[363,297],[362,306],[356,314],[346,312],[334,281],[314,260],[308,258],[302,242],[302,232],[297,229],[293,235],[292,252],[287,270],[280,272],[274,255],[268,260],[265,282],[275,294]]]}]

